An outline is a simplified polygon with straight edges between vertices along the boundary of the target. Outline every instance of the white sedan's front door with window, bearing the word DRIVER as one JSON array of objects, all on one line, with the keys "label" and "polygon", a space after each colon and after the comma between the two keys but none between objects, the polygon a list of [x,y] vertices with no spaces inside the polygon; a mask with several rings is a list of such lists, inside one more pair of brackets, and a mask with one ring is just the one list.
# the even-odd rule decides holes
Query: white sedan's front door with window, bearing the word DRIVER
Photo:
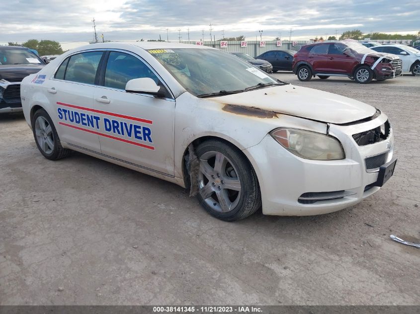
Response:
[{"label": "white sedan's front door with window, bearing the word DRIVER", "polygon": [[[102,153],[154,171],[174,175],[175,100],[157,73],[139,56],[110,51],[102,65],[100,86],[93,94],[102,123]],[[150,77],[167,97],[128,93],[126,83]]]}]

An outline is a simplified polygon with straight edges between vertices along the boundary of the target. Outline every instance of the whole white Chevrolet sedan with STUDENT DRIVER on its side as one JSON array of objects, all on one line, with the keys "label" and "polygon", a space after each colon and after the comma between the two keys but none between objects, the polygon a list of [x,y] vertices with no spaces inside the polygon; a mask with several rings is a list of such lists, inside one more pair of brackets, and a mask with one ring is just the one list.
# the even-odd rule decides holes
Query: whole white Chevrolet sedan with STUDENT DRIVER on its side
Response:
[{"label": "whole white Chevrolet sedan with STUDENT DRIVER on its side", "polygon": [[46,158],[76,150],[173,182],[226,221],[261,207],[315,215],[352,206],[396,164],[378,109],[281,82],[218,49],[94,44],[21,86]]}]

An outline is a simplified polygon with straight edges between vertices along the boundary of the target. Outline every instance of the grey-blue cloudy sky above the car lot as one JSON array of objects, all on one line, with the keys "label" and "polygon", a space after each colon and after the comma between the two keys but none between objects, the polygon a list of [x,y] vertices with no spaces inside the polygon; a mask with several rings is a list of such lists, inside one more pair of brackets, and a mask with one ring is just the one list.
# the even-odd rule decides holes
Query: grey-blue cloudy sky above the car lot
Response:
[{"label": "grey-blue cloudy sky above the car lot", "polygon": [[413,33],[420,30],[419,0],[6,0],[1,5],[0,43],[30,38],[60,42],[109,40],[216,40],[245,35],[254,40],[279,36],[309,39],[357,28],[363,32]]}]

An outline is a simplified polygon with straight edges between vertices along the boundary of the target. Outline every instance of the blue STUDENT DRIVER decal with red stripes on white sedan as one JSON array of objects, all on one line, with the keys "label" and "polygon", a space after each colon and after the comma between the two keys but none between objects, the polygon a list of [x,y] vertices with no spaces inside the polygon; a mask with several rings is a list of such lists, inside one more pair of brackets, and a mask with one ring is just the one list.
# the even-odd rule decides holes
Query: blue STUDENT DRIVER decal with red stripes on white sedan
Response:
[{"label": "blue STUDENT DRIVER decal with red stripes on white sedan", "polygon": [[[59,106],[57,108],[58,119],[60,119],[59,124],[62,126],[72,127],[85,132],[97,134],[99,136],[155,150],[155,147],[150,145],[153,144],[152,130],[150,127],[144,126],[145,124],[152,125],[152,120],[124,116],[112,112],[95,110],[61,102],[57,102],[57,105]],[[106,115],[108,117],[84,113],[80,110]],[[134,122],[126,122],[121,119]],[[101,132],[101,129],[105,130],[105,133]],[[122,135],[125,138],[114,135]]]}]

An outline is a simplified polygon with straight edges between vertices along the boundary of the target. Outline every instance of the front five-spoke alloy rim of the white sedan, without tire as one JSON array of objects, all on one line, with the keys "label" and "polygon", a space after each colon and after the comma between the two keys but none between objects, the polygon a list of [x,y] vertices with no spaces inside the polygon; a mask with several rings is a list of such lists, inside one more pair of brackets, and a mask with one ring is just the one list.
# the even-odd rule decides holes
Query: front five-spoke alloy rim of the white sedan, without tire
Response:
[{"label": "front five-spoke alloy rim of the white sedan, without tire", "polygon": [[241,198],[241,181],[233,163],[220,152],[200,157],[198,188],[204,201],[219,212],[233,210]]}]

